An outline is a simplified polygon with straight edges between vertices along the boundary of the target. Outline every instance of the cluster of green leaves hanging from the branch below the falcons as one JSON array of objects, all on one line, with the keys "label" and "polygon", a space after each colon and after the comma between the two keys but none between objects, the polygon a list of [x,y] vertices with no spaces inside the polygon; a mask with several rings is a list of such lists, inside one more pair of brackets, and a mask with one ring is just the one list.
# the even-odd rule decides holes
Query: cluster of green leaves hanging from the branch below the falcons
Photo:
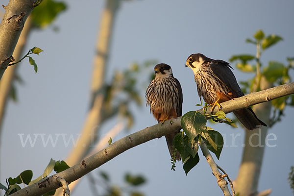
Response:
[{"label": "cluster of green leaves hanging from the branch below the falcons", "polygon": [[[203,107],[204,111],[207,105]],[[181,126],[183,131],[179,132],[173,139],[173,146],[181,154],[183,169],[186,173],[194,168],[199,162],[198,149],[201,142],[205,142],[207,148],[212,151],[218,159],[221,156],[223,147],[223,138],[218,131],[206,126],[206,117],[214,118],[217,122],[227,123],[236,126],[225,114],[217,113],[213,116],[202,115],[197,111],[190,111],[181,118]]]}]

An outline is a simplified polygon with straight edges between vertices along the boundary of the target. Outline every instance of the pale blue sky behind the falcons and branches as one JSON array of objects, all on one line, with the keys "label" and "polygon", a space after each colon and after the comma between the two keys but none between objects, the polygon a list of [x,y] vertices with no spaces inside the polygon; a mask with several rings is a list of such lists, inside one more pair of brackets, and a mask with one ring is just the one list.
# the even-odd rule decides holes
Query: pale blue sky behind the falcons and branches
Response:
[{"label": "pale blue sky behind the falcons and branches", "polygon": [[[1,0],[7,4],[8,0]],[[83,125],[89,102],[89,84],[96,34],[104,0],[66,0],[68,10],[61,14],[52,28],[34,31],[27,49],[34,46],[45,51],[35,57],[39,66],[37,74],[25,61],[20,74],[25,85],[18,85],[18,103],[10,102],[2,127],[0,182],[31,169],[38,177],[52,157],[63,160],[71,147],[64,147],[59,140],[56,147],[43,147],[37,140],[35,147],[22,147],[18,134],[78,134]],[[191,53],[203,53],[214,59],[228,60],[232,54],[255,53],[253,45],[245,43],[258,29],[266,34],[275,33],[284,41],[270,48],[262,56],[266,64],[270,60],[286,63],[286,57],[294,56],[294,1],[293,0],[134,0],[124,2],[114,26],[113,42],[107,78],[114,70],[123,70],[132,62],[156,59],[172,66],[174,76],[183,88],[183,113],[199,109],[193,72],[185,69],[185,61]],[[26,50],[27,50],[26,49]],[[234,67],[234,64],[232,64]],[[150,69],[152,69],[150,67]],[[234,71],[238,80],[250,74]],[[292,77],[294,73],[291,72]],[[142,90],[144,92],[145,89]],[[143,94],[142,94],[143,95]],[[136,122],[131,132],[156,123],[149,108],[135,108]],[[294,129],[291,126],[293,108],[288,108],[281,123],[269,130],[277,137],[267,147],[260,176],[259,191],[272,189],[272,195],[291,195],[288,184],[290,166],[294,165]],[[103,133],[113,127],[118,119],[102,127]],[[212,125],[227,138],[220,161],[217,163],[235,179],[241,161],[243,129],[226,125]],[[130,132],[130,133],[131,133]],[[128,133],[121,133],[116,139]],[[231,135],[240,134],[236,147],[232,147]],[[8,153],[9,152],[9,153]],[[171,171],[170,155],[164,138],[132,148],[93,171],[111,173],[115,183],[123,184],[126,171],[142,173],[147,184],[142,191],[147,196],[156,195],[222,195],[211,174],[211,169],[200,153],[199,164],[185,175],[181,163]],[[101,188],[99,188],[101,191]],[[73,196],[90,192],[86,177]]]}]

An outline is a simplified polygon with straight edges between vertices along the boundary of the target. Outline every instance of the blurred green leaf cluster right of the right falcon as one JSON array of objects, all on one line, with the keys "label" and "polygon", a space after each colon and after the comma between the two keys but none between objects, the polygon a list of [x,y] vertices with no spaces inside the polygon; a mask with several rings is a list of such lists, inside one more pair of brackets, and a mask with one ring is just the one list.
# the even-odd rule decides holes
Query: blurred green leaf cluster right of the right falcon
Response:
[{"label": "blurred green leaf cluster right of the right falcon", "polygon": [[[292,82],[293,78],[290,76],[290,71],[294,69],[294,57],[287,58],[287,64],[269,61],[263,65],[260,61],[262,53],[270,47],[276,45],[283,38],[275,35],[265,35],[262,30],[258,30],[252,38],[246,39],[246,43],[256,46],[256,55],[239,54],[233,55],[229,61],[236,62],[236,68],[245,73],[256,73],[247,81],[240,81],[242,91],[247,94],[260,90],[261,78],[265,78],[272,86],[278,86]],[[277,98],[271,101],[274,108],[270,117],[270,126],[281,120],[284,109],[287,105],[294,106],[294,95]]]}]

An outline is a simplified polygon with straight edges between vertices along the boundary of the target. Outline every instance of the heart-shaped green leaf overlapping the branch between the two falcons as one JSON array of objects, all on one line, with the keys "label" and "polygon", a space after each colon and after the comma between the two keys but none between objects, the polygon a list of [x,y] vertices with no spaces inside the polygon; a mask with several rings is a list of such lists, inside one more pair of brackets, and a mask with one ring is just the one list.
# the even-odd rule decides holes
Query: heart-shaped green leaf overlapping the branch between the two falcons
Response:
[{"label": "heart-shaped green leaf overlapping the branch between the two falcons", "polygon": [[193,141],[201,133],[205,125],[205,116],[196,111],[187,112],[181,119],[181,126],[190,141]]}]

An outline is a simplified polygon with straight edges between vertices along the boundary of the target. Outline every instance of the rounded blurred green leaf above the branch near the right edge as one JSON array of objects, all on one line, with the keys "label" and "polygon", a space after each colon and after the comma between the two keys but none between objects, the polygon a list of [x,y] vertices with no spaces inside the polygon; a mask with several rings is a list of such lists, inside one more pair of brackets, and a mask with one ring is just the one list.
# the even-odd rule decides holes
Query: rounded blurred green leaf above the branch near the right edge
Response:
[{"label": "rounded blurred green leaf above the branch near the right edge", "polygon": [[270,61],[263,74],[269,82],[274,83],[287,74],[287,68],[282,63]]}]

